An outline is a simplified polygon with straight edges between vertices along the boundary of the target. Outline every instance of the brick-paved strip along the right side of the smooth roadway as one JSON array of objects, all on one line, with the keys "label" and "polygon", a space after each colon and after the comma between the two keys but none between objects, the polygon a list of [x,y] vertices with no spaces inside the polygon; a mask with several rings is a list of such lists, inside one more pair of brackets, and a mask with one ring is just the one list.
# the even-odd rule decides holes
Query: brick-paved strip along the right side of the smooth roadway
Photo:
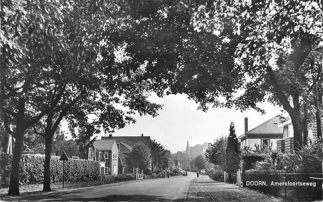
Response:
[{"label": "brick-paved strip along the right side of the smooth roadway", "polygon": [[201,176],[192,180],[185,201],[284,201],[282,198],[270,197],[254,190],[206,179],[206,177]]}]

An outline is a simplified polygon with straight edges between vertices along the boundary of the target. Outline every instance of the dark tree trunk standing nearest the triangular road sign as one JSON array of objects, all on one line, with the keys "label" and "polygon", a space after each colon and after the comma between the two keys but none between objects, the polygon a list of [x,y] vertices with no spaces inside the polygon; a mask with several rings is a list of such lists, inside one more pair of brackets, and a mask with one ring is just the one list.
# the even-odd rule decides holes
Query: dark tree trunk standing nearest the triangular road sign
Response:
[{"label": "dark tree trunk standing nearest the triangular road sign", "polygon": [[50,163],[51,163],[52,142],[53,142],[52,136],[48,137],[46,135],[43,191],[51,191]]}]

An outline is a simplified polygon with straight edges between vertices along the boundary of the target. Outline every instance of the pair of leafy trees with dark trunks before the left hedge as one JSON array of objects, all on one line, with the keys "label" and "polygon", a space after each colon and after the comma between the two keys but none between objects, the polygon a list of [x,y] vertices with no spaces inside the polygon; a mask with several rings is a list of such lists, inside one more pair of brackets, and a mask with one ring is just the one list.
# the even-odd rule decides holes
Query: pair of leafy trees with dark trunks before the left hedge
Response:
[{"label": "pair of leafy trees with dark trunks before the left hedge", "polygon": [[[120,31],[116,7],[113,1],[91,0],[82,6],[78,1],[1,4],[6,11],[1,14],[1,111],[6,128],[16,125],[9,195],[19,195],[27,128],[45,138],[44,190],[50,190],[51,144],[64,117],[71,127],[90,122],[92,128],[113,131],[134,122],[135,111],[156,116],[161,109],[147,101],[148,81],[138,76],[139,67],[129,69],[116,59],[123,45],[111,40]],[[128,107],[127,113],[118,104]],[[88,121],[93,112],[98,118]]]}]

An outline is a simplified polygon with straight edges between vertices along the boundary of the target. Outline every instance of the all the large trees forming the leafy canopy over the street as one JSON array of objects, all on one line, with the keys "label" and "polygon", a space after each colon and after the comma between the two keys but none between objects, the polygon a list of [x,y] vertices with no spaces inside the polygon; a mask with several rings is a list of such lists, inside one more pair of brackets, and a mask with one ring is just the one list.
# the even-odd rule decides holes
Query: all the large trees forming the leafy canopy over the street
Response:
[{"label": "all the large trees forming the leafy canopy over the street", "polygon": [[299,149],[311,116],[321,125],[321,8],[317,0],[3,1],[1,123],[16,138],[8,195],[19,195],[27,129],[44,138],[48,191],[63,118],[82,145],[101,126],[110,133],[135,122],[136,111],[156,116],[162,106],[146,99],[150,91],[185,93],[204,111],[264,112],[256,104],[271,101],[290,115]]}]

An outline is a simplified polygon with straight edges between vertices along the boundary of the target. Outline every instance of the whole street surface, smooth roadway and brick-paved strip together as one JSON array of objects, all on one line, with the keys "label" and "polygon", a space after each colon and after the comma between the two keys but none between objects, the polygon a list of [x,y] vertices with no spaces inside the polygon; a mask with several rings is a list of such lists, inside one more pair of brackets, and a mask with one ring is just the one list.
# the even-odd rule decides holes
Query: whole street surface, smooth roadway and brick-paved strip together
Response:
[{"label": "whole street surface, smooth roadway and brick-paved strip together", "polygon": [[236,185],[217,182],[208,176],[158,178],[122,182],[69,191],[42,193],[18,200],[27,201],[282,201]]}]

